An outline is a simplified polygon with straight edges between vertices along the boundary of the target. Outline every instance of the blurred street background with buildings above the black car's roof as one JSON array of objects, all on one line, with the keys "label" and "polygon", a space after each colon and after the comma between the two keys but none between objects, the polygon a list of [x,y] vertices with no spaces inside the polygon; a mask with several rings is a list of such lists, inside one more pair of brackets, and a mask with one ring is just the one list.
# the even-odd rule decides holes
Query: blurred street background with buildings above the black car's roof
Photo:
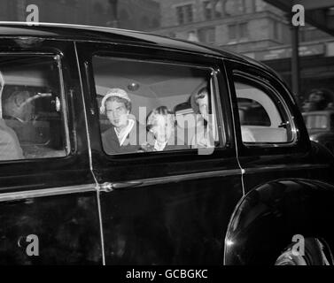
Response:
[{"label": "blurred street background with buildings above the black car's roof", "polygon": [[[291,25],[292,0],[0,0],[1,21],[136,29],[212,44],[269,65],[303,111],[334,109],[334,1],[301,0],[306,25]],[[296,57],[296,50],[297,52]]]}]

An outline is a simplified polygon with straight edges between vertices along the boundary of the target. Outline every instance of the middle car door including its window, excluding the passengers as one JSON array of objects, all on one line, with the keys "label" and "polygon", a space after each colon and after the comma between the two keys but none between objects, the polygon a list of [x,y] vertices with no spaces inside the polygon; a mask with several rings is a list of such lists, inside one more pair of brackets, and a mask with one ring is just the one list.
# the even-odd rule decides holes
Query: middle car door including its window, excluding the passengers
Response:
[{"label": "middle car door including its window, excluding the passengers", "polygon": [[[221,60],[127,44],[79,42],[77,48],[100,184],[105,263],[221,264],[229,218],[243,195]],[[212,150],[184,149],[194,120],[184,126],[182,119],[194,114],[190,96],[203,81],[218,138]],[[98,110],[110,88],[128,92],[140,123],[161,105],[173,108],[188,141],[160,152],[106,154],[101,132],[110,121]]]}]

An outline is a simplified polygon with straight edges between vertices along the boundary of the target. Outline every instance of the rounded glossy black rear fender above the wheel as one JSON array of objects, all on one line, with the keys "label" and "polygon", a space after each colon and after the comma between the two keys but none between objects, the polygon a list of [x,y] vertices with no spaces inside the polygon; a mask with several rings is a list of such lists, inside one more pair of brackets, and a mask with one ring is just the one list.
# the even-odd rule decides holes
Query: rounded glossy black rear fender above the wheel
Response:
[{"label": "rounded glossy black rear fender above the wheel", "polygon": [[294,235],[322,238],[333,252],[333,208],[328,183],[275,180],[253,188],[229,221],[224,264],[275,264]]}]

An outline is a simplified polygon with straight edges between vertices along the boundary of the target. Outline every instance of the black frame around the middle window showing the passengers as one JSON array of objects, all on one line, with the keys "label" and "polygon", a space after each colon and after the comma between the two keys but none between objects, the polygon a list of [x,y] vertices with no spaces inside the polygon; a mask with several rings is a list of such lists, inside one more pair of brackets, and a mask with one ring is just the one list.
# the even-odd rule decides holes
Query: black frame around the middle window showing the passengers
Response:
[{"label": "black frame around the middle window showing the passengers", "polygon": [[[79,42],[78,42],[79,43]],[[80,44],[80,43],[79,43]],[[201,160],[203,160],[203,158],[205,156],[208,156],[207,158],[213,158],[213,157],[221,157],[221,155],[224,155],[226,152],[229,152],[229,154],[227,154],[227,156],[233,156],[235,155],[234,151],[234,147],[233,147],[233,138],[231,135],[231,126],[229,124],[230,119],[226,117],[227,114],[226,111],[222,111],[221,109],[221,105],[226,105],[227,103],[229,103],[229,92],[228,89],[226,88],[225,90],[225,97],[221,97],[224,96],[223,91],[222,91],[222,83],[221,80],[226,80],[225,77],[222,75],[221,70],[223,70],[223,67],[221,65],[222,61],[221,58],[219,57],[211,57],[211,60],[208,60],[208,58],[206,56],[203,56],[201,54],[197,54],[197,57],[200,57],[202,60],[205,60],[205,63],[203,64],[199,64],[198,62],[195,64],[190,60],[187,59],[183,59],[184,57],[184,52],[180,51],[180,50],[167,50],[167,52],[171,52],[173,55],[175,55],[175,57],[177,57],[176,59],[167,59],[170,57],[167,56],[163,56],[163,54],[166,50],[162,49],[162,48],[151,48],[151,47],[147,47],[147,46],[132,46],[134,50],[127,50],[126,52],[124,51],[120,51],[119,49],[123,48],[127,48],[126,44],[113,44],[113,43],[109,43],[109,42],[90,42],[90,44],[93,44],[95,46],[95,48],[89,50],[89,47],[86,47],[84,50],[79,50],[79,53],[81,56],[84,56],[84,58],[81,57],[80,60],[83,60],[82,65],[83,65],[83,69],[84,69],[84,73],[85,73],[85,77],[87,81],[87,87],[89,88],[89,93],[90,93],[90,97],[89,97],[89,103],[90,103],[90,113],[94,113],[93,115],[95,116],[94,119],[97,119],[98,123],[95,123],[95,125],[97,126],[98,124],[98,151],[102,151],[103,152],[103,158],[106,158],[109,161],[112,162],[125,162],[128,160],[131,160],[131,162],[135,162],[138,164],[144,163],[147,160],[164,160],[164,159],[178,159],[180,157],[198,157]],[[98,45],[98,48],[96,46],[96,44]],[[101,45],[100,45],[101,44]],[[82,42],[82,46],[84,45],[88,45],[87,42],[83,43]],[[114,50],[113,50],[114,47]],[[116,48],[115,48],[116,47]],[[158,56],[154,56],[148,53],[138,53],[136,52],[136,48],[138,49],[144,49],[145,51],[147,50],[151,50],[154,49],[156,51],[158,51],[159,55]],[[84,54],[82,54],[84,53]],[[130,59],[130,60],[150,60],[151,62],[157,62],[157,63],[167,63],[167,64],[175,64],[175,65],[189,65],[189,66],[194,66],[194,67],[204,67],[204,68],[210,68],[213,70],[214,72],[214,91],[215,91],[215,105],[217,105],[217,109],[216,109],[216,119],[217,119],[217,127],[218,127],[218,131],[219,133],[221,133],[221,131],[223,131],[224,133],[224,139],[222,140],[224,142],[224,147],[219,147],[219,148],[214,148],[214,155],[198,155],[198,149],[178,149],[178,150],[166,150],[166,151],[162,151],[162,152],[134,152],[134,153],[128,153],[128,154],[118,154],[118,155],[107,155],[105,154],[105,151],[103,150],[103,145],[102,145],[102,139],[101,139],[101,133],[100,133],[100,123],[99,123],[99,117],[98,115],[95,115],[95,113],[97,113],[99,106],[97,105],[97,93],[96,93],[96,85],[95,85],[95,78],[94,78],[94,70],[93,70],[93,65],[92,65],[92,58],[94,57],[94,55],[98,55],[99,57],[101,56],[108,56],[108,57],[116,57],[116,58],[124,58],[124,59]],[[177,56],[176,56],[177,55]],[[192,55],[193,54],[186,54],[186,55]],[[179,59],[179,58],[182,59]],[[208,61],[208,62],[206,62]],[[214,63],[214,64],[213,64]],[[224,81],[226,82],[226,81]],[[227,83],[226,83],[227,85]],[[222,104],[222,101],[224,100],[224,104]],[[220,107],[218,107],[220,106]],[[229,105],[228,105],[229,106]],[[221,134],[220,134],[221,135]],[[90,138],[91,138],[91,134],[90,134]],[[221,136],[220,136],[221,139]],[[94,141],[91,141],[91,145],[94,148],[95,146],[97,146],[97,144]]]}]

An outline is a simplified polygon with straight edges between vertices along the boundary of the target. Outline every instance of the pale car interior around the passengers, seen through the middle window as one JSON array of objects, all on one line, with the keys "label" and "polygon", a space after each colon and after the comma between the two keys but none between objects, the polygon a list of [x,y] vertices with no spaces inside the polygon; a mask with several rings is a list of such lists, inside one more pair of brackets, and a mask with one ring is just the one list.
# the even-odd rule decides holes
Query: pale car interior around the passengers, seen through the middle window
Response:
[{"label": "pale car interior around the passengers, seen through the middle window", "polygon": [[[211,89],[212,70],[209,68],[93,57],[93,70],[98,107],[109,88],[122,88],[127,91],[132,103],[131,114],[143,125],[146,124],[146,117],[152,109],[167,106],[175,113],[177,133],[183,135],[184,144],[188,145],[196,128],[205,123],[191,105],[191,96],[204,86]],[[213,96],[213,91],[211,95]],[[214,99],[210,97],[210,101],[210,111],[214,114]],[[110,126],[106,115],[100,113],[101,133]],[[216,146],[219,144],[218,140],[216,134]]]}]

